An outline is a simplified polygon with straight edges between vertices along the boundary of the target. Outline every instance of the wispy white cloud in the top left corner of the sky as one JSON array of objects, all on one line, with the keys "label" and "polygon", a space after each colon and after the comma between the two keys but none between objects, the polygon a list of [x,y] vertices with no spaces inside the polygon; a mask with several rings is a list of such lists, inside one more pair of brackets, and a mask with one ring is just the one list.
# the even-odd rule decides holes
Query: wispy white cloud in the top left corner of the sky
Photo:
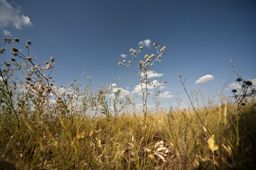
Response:
[{"label": "wispy white cloud in the top left corner of the sky", "polygon": [[14,2],[8,3],[6,0],[0,0],[0,16],[0,29],[9,35],[11,33],[6,28],[10,26],[17,29],[22,29],[23,26],[32,26],[30,18],[21,14],[20,6]]}]

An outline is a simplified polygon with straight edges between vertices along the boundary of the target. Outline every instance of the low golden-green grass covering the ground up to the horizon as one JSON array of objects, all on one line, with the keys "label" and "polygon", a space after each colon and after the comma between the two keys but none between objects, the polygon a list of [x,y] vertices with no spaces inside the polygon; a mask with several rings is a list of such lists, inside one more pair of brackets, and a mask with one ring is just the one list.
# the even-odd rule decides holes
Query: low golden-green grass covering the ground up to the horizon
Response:
[{"label": "low golden-green grass covering the ground up to the horizon", "polygon": [[[224,116],[224,110],[228,114]],[[244,107],[239,116],[239,146],[230,106],[200,109],[198,113],[211,135],[191,109],[172,114],[149,114],[144,137],[143,116],[48,121],[23,117],[21,144],[17,126],[1,119],[1,169],[253,169],[255,168],[255,105]],[[217,110],[217,112],[216,112]],[[35,113],[36,114],[36,113]],[[225,119],[225,120],[224,120]],[[225,124],[226,122],[226,124]],[[91,126],[90,126],[91,125]],[[9,128],[12,137],[4,128]],[[160,142],[160,143],[157,143]],[[160,149],[159,149],[160,148]]]}]

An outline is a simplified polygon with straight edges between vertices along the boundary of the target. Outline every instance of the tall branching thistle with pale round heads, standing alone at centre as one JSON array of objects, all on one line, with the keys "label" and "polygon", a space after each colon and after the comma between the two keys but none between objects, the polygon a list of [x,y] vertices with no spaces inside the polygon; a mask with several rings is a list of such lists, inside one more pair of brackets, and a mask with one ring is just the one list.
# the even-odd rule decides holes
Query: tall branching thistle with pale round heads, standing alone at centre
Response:
[{"label": "tall branching thistle with pale round heads, standing alone at centre", "polygon": [[121,66],[124,66],[127,69],[130,69],[138,75],[139,80],[140,80],[140,86],[141,86],[141,92],[142,92],[142,104],[143,104],[143,115],[144,115],[144,126],[146,123],[146,117],[147,117],[147,112],[148,112],[148,107],[147,107],[147,101],[148,101],[148,95],[150,94],[148,92],[148,87],[150,86],[150,81],[148,80],[148,72],[151,69],[151,66],[153,66],[156,63],[161,63],[161,57],[165,54],[166,47],[160,47],[156,46],[157,43],[154,43],[154,47],[157,51],[157,55],[151,54],[151,55],[144,55],[144,60],[139,60],[138,59],[138,54],[140,54],[141,50],[143,49],[143,46],[140,47],[138,51],[134,49],[130,49],[130,53],[132,55],[132,59],[134,59],[137,62],[138,66],[138,71],[135,71],[134,69],[131,68],[132,61],[129,61],[128,64],[126,60],[123,62],[119,62],[118,64]]}]

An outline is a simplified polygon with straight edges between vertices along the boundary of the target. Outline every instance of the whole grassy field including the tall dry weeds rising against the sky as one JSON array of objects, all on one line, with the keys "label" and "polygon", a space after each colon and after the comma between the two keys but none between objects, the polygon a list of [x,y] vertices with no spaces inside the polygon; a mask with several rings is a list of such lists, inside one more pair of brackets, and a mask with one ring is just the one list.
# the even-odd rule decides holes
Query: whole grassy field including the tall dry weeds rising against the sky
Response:
[{"label": "whole grassy field including the tall dry weeds rising against the sky", "polygon": [[[4,41],[0,46],[19,39]],[[156,47],[156,59],[145,55],[138,64],[143,108],[135,109],[134,97],[121,97],[120,78],[115,86],[98,90],[92,77],[84,90],[76,79],[56,87],[50,77],[55,58],[40,63],[30,55],[30,45],[27,41],[27,54],[12,47],[14,58],[0,65],[0,169],[256,168],[255,86],[241,79],[233,65],[241,88],[232,90],[232,97],[222,96],[217,104],[208,99],[200,106],[194,91],[188,95],[191,108],[165,110],[159,108],[160,91],[154,86],[156,107],[149,110],[147,71],[161,62],[166,49]],[[136,58],[140,50],[130,52]],[[1,48],[0,54],[5,51]],[[130,69],[128,63],[119,65]],[[187,92],[186,78],[179,80]]]}]

